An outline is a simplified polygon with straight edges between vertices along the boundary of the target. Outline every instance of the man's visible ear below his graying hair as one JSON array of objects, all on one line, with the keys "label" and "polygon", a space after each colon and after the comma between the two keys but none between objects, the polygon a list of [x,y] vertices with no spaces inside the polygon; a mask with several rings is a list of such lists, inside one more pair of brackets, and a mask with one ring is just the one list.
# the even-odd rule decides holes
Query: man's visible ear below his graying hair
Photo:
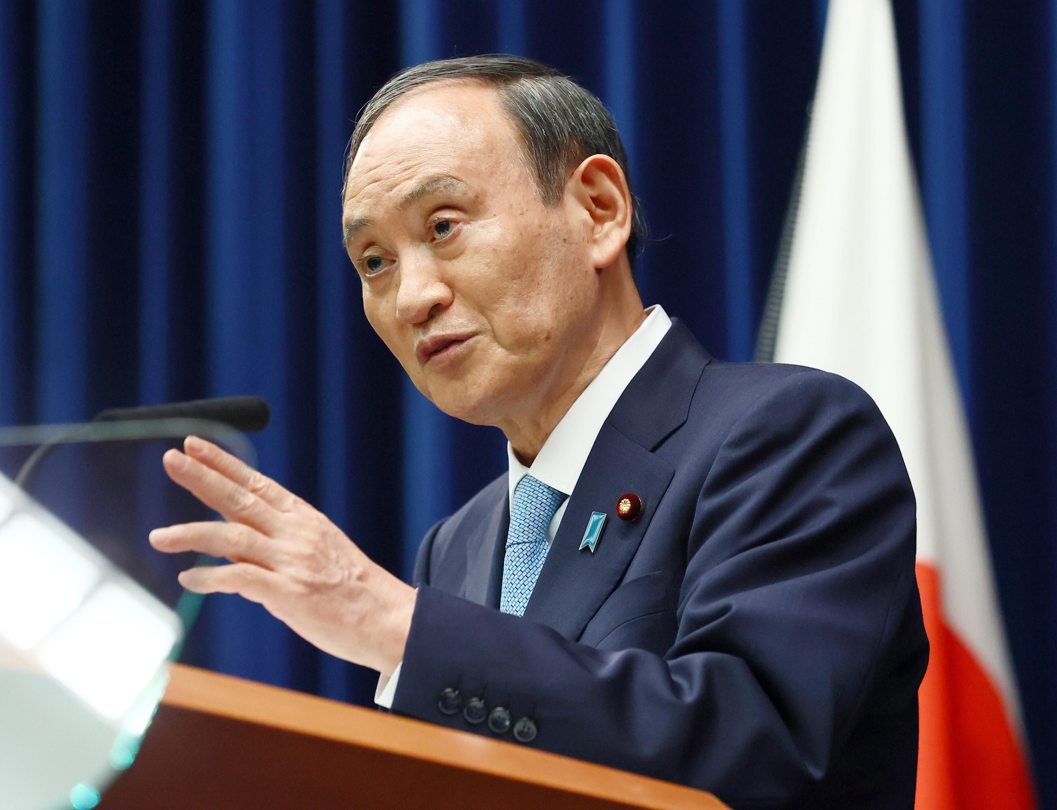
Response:
[{"label": "man's visible ear below his graying hair", "polygon": [[631,189],[619,164],[608,154],[592,154],[570,176],[565,192],[586,215],[594,266],[609,266],[631,236]]}]

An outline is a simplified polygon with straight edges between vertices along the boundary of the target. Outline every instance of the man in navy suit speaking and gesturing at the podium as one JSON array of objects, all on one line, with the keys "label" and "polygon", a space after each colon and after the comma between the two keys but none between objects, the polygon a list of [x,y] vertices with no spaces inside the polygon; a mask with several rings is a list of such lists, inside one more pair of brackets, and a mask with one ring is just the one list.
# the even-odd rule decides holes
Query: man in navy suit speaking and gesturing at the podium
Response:
[{"label": "man in navy suit speaking and gesturing at the podium", "polygon": [[869,397],[708,356],[644,310],[598,100],[513,57],[419,66],[365,109],[346,244],[420,390],[503,429],[509,474],[426,536],[413,587],[218,448],[172,478],[228,518],[156,530],[381,674],[394,712],[715,792],[911,808],[927,641],[914,501]]}]

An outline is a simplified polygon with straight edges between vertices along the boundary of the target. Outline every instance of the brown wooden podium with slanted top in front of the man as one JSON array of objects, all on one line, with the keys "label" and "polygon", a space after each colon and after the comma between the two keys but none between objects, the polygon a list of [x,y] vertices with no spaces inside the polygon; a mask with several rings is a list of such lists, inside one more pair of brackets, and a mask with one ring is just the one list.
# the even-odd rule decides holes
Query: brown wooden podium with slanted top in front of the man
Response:
[{"label": "brown wooden podium with slanted top in front of the man", "polygon": [[172,667],[99,810],[650,808],[709,793],[253,681]]}]

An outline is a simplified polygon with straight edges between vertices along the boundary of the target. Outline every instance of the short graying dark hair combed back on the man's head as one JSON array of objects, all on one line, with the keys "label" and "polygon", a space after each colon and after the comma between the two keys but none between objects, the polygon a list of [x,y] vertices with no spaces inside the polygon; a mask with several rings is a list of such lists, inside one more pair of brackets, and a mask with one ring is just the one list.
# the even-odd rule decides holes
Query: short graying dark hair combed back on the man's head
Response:
[{"label": "short graying dark hair combed back on the man's head", "polygon": [[[496,88],[500,104],[521,135],[536,191],[545,205],[557,205],[569,173],[592,154],[608,154],[620,166],[631,188],[631,171],[613,116],[600,100],[568,76],[534,59],[506,54],[439,59],[401,71],[367,103],[349,142],[348,182],[360,144],[382,113],[401,96],[431,81],[467,79]],[[342,199],[345,191],[342,189]],[[634,264],[646,240],[646,222],[632,191],[628,258]]]}]

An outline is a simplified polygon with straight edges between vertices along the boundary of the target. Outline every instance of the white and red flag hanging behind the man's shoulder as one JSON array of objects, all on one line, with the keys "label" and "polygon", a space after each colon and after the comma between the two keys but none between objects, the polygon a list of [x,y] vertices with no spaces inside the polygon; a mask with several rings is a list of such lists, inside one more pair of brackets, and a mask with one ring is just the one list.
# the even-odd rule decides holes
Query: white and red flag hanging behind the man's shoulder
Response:
[{"label": "white and red flag hanging behind the man's shoulder", "polygon": [[929,633],[917,807],[1034,807],[966,419],[903,118],[889,0],[830,0],[775,361],[876,401],[917,499]]}]

